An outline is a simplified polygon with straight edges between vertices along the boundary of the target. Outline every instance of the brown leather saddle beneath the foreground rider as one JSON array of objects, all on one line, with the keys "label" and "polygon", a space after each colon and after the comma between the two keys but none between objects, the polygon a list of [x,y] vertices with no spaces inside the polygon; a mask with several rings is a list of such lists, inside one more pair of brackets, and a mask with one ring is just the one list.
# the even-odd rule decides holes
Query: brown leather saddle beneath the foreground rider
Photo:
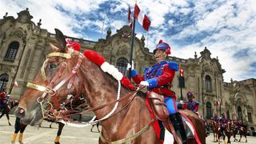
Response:
[{"label": "brown leather saddle beneath the foreground rider", "polygon": [[167,121],[169,118],[169,111],[162,95],[150,92],[147,97],[149,99],[150,107],[156,118],[160,121]]}]

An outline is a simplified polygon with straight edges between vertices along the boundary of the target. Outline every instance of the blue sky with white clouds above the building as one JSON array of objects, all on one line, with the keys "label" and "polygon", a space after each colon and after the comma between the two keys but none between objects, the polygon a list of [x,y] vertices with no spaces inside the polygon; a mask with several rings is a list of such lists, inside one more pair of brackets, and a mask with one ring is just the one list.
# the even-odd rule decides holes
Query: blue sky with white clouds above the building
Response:
[{"label": "blue sky with white clouds above the building", "polygon": [[[127,25],[127,10],[135,1],[125,0],[1,0],[0,16],[17,18],[29,8],[32,20],[42,18],[42,28],[54,28],[66,35],[98,41]],[[154,50],[159,39],[171,46],[172,56],[194,58],[206,46],[211,57],[218,56],[225,82],[256,78],[256,0],[138,0],[151,20],[149,31],[136,24],[138,37]],[[104,21],[103,33],[102,24]]]}]

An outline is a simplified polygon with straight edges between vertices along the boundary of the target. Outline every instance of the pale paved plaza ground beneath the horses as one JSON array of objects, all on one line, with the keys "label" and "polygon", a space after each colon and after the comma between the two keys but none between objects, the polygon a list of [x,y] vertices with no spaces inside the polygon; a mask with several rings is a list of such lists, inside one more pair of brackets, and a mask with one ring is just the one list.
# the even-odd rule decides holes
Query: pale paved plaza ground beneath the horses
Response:
[{"label": "pale paved plaza ground beneath the horses", "polygon": [[[0,144],[10,144],[10,139],[14,134],[14,115],[10,115],[10,122],[12,126],[8,126],[6,117],[0,119]],[[49,122],[43,122],[42,127],[33,127],[27,126],[23,142],[25,144],[52,144],[54,143],[54,138],[58,131],[58,124],[53,124],[52,128],[49,128]],[[91,133],[90,126],[85,128],[76,128],[71,126],[64,126],[61,136],[62,144],[97,144],[98,143],[98,133]],[[96,131],[96,127],[94,127]],[[247,144],[255,144],[256,137],[248,137]],[[242,138],[242,142],[233,142],[233,138],[231,139],[231,143],[234,144],[243,144],[245,142],[245,138]],[[18,137],[16,139],[18,141]],[[16,142],[18,144],[18,142]],[[213,142],[213,135],[211,134],[206,138],[207,144],[217,144],[218,142]],[[224,143],[224,142],[222,142]]]}]

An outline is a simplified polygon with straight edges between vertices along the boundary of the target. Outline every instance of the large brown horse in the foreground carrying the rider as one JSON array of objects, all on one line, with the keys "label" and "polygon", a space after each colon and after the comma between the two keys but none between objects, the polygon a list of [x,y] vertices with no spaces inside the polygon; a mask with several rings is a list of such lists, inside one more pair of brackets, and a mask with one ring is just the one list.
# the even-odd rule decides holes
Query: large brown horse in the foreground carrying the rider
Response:
[{"label": "large brown horse in the foreground carrying the rider", "polygon": [[[58,103],[62,103],[67,94],[82,93],[86,95],[90,107],[101,106],[97,110],[94,109],[98,119],[110,114],[110,111],[114,110],[114,102],[118,102],[114,114],[101,121],[102,132],[99,143],[118,140],[129,143],[161,143],[152,125],[155,119],[151,118],[145,99],[133,90],[121,87],[120,100],[117,101],[117,80],[82,54],[67,49],[65,37],[59,30],[55,31],[60,48],[50,45],[55,52],[52,55],[55,56],[46,59],[41,72],[34,78],[33,83],[36,85],[34,88],[27,88],[22,95],[15,111],[16,116],[21,118],[22,122],[33,126],[42,120],[45,103],[48,103],[50,108],[49,103],[53,103],[52,108],[58,110]],[[46,79],[43,79],[42,75],[45,75]],[[51,100],[47,101],[47,99]],[[202,120],[190,110],[182,110],[181,113],[186,114],[193,122],[201,143],[206,143]]]}]

